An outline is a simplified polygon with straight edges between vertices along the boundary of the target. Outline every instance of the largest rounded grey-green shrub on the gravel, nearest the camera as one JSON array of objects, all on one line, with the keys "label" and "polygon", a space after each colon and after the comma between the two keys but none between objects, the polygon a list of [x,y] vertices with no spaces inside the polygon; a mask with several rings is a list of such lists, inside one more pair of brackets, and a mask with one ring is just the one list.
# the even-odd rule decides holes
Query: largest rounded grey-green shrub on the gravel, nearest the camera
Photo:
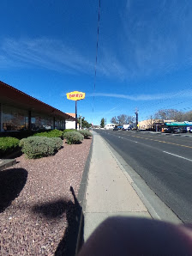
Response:
[{"label": "largest rounded grey-green shrub on the gravel, nearest the camera", "polygon": [[28,158],[54,155],[62,145],[59,137],[27,137],[20,141],[21,150]]}]

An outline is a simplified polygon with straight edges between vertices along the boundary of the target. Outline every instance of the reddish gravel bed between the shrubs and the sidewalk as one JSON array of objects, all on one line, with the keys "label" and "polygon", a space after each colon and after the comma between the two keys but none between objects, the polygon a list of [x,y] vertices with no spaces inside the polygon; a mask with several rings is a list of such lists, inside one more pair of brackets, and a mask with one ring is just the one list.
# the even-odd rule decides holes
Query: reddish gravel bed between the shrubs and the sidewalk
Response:
[{"label": "reddish gravel bed between the shrubs and the sidewalk", "polygon": [[0,255],[54,255],[74,203],[69,189],[77,196],[91,143],[63,143],[56,155],[36,160],[21,155],[0,172]]}]

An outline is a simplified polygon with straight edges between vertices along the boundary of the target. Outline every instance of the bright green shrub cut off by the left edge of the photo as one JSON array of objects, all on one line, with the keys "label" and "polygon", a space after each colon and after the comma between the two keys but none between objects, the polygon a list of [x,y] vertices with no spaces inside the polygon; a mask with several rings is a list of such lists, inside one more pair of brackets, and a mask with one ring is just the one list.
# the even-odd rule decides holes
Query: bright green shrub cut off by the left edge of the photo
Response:
[{"label": "bright green shrub cut off by the left edge of the photo", "polygon": [[20,140],[15,137],[0,137],[0,155],[7,155],[19,148]]}]

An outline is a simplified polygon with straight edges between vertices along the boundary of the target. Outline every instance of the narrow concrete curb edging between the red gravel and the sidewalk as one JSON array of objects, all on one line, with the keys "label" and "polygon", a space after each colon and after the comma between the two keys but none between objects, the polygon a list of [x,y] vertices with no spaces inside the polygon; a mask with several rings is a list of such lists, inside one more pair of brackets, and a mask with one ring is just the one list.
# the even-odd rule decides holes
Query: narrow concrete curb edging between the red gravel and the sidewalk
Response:
[{"label": "narrow concrete curb edging between the red gravel and the sidewalk", "polygon": [[86,189],[87,189],[87,177],[88,177],[90,162],[91,162],[91,158],[92,158],[92,153],[93,153],[93,137],[92,137],[92,143],[91,143],[91,147],[89,150],[89,154],[87,156],[85,168],[84,168],[84,171],[82,174],[81,185],[80,185],[79,192],[77,195],[77,200],[78,200],[79,204],[81,205],[81,221],[80,221],[80,225],[79,225],[79,232],[78,232],[78,237],[77,237],[77,242],[76,242],[75,255],[81,249],[81,240],[82,240],[81,236],[83,235],[83,229],[84,229],[83,210],[85,209],[85,205],[86,205],[85,195],[86,195]]}]

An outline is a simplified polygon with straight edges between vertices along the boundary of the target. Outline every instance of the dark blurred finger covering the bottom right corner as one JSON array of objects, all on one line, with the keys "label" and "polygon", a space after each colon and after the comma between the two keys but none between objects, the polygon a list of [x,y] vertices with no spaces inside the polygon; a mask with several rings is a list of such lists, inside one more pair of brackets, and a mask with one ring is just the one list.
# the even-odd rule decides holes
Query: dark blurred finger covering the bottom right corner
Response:
[{"label": "dark blurred finger covering the bottom right corner", "polygon": [[192,229],[147,218],[114,216],[99,225],[78,255],[192,255]]}]

